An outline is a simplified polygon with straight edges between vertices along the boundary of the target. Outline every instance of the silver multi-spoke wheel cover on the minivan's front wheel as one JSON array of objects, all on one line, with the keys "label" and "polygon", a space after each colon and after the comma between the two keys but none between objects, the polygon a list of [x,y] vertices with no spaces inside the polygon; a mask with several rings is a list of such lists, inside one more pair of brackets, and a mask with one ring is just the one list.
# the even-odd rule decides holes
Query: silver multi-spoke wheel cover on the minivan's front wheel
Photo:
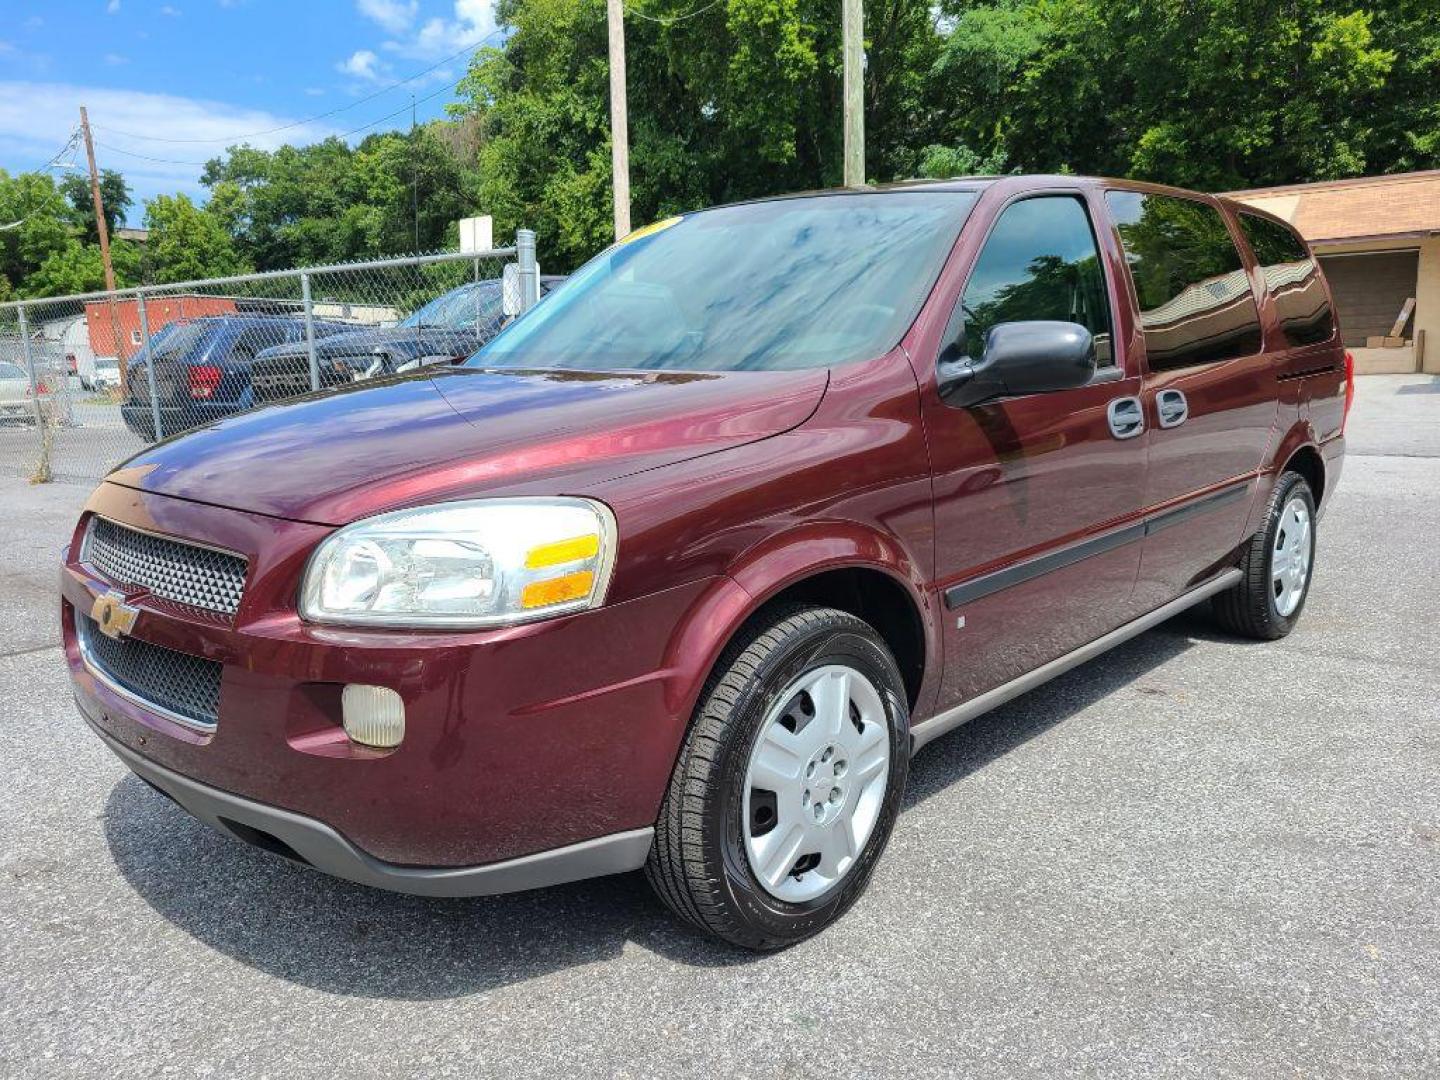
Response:
[{"label": "silver multi-spoke wheel cover on the minivan's front wheel", "polygon": [[791,683],[765,717],[744,775],[744,852],[760,886],[804,903],[860,858],[890,782],[890,729],[876,685],[831,664]]}]

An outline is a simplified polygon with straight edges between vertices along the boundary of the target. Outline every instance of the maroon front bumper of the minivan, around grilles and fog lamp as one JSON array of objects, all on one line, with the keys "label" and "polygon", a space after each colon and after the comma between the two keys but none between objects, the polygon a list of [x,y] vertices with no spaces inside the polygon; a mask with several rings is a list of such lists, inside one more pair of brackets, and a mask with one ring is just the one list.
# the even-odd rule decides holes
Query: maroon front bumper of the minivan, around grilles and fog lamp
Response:
[{"label": "maroon front bumper of the minivan, around grilles and fog lamp", "polygon": [[[386,865],[472,876],[554,850],[569,861],[579,847],[590,860],[586,844],[605,848],[616,835],[625,837],[615,841],[624,854],[605,855],[603,865],[636,858],[703,678],[674,655],[675,628],[708,589],[739,588],[704,579],[475,634],[317,626],[295,615],[295,596],[310,552],[330,528],[107,482],[92,495],[72,552],[89,513],[243,554],[249,572],[232,621],[127,595],[140,609],[131,638],[220,667],[217,723],[196,730],[117,693],[86,665],[76,621],[114,583],[69,557],[60,573],[62,631],[88,720],[164,776],[238,798],[251,816],[230,819],[278,837],[312,865],[353,880],[402,881],[389,887],[406,887],[406,878],[382,873]],[[338,706],[350,683],[400,694],[399,747],[372,750],[346,739]],[[174,783],[157,786],[203,819],[226,816],[209,804],[196,809]],[[271,825],[253,816],[261,812]],[[314,827],[298,840],[297,821]],[[324,842],[314,840],[317,828]]]}]

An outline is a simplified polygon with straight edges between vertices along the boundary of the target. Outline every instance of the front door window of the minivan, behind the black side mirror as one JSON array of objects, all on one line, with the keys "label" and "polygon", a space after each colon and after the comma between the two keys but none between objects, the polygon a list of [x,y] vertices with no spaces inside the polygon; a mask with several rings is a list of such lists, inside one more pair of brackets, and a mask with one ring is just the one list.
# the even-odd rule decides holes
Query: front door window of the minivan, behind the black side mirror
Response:
[{"label": "front door window of the minivan, behind the black side mirror", "polygon": [[965,351],[979,360],[998,323],[1054,318],[1094,337],[1096,366],[1115,364],[1104,271],[1084,203],[1025,199],[1001,213],[960,297]]}]

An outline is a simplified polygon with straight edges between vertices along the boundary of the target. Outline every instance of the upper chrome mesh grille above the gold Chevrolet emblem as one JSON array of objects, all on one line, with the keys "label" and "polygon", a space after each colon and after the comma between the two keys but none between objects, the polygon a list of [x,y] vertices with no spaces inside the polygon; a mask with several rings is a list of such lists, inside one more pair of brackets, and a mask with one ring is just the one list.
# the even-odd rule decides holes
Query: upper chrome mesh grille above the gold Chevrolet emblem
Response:
[{"label": "upper chrome mesh grille above the gold Chevrolet emblem", "polygon": [[235,615],[245,592],[240,556],[127,528],[104,517],[91,518],[81,557],[115,585],[147,589],[220,615]]}]

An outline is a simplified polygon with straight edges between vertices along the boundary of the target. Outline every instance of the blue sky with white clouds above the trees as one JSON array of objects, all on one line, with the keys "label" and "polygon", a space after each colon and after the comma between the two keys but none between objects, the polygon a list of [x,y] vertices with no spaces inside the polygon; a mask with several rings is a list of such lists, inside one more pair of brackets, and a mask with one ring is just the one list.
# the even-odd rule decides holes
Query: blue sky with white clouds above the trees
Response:
[{"label": "blue sky with white clouds above the trees", "polygon": [[[0,168],[46,168],[85,105],[138,225],[143,199],[203,197],[203,163],[232,143],[408,128],[412,92],[422,121],[442,115],[455,55],[494,32],[492,0],[0,0]],[[53,174],[71,163],[82,148]]]}]

